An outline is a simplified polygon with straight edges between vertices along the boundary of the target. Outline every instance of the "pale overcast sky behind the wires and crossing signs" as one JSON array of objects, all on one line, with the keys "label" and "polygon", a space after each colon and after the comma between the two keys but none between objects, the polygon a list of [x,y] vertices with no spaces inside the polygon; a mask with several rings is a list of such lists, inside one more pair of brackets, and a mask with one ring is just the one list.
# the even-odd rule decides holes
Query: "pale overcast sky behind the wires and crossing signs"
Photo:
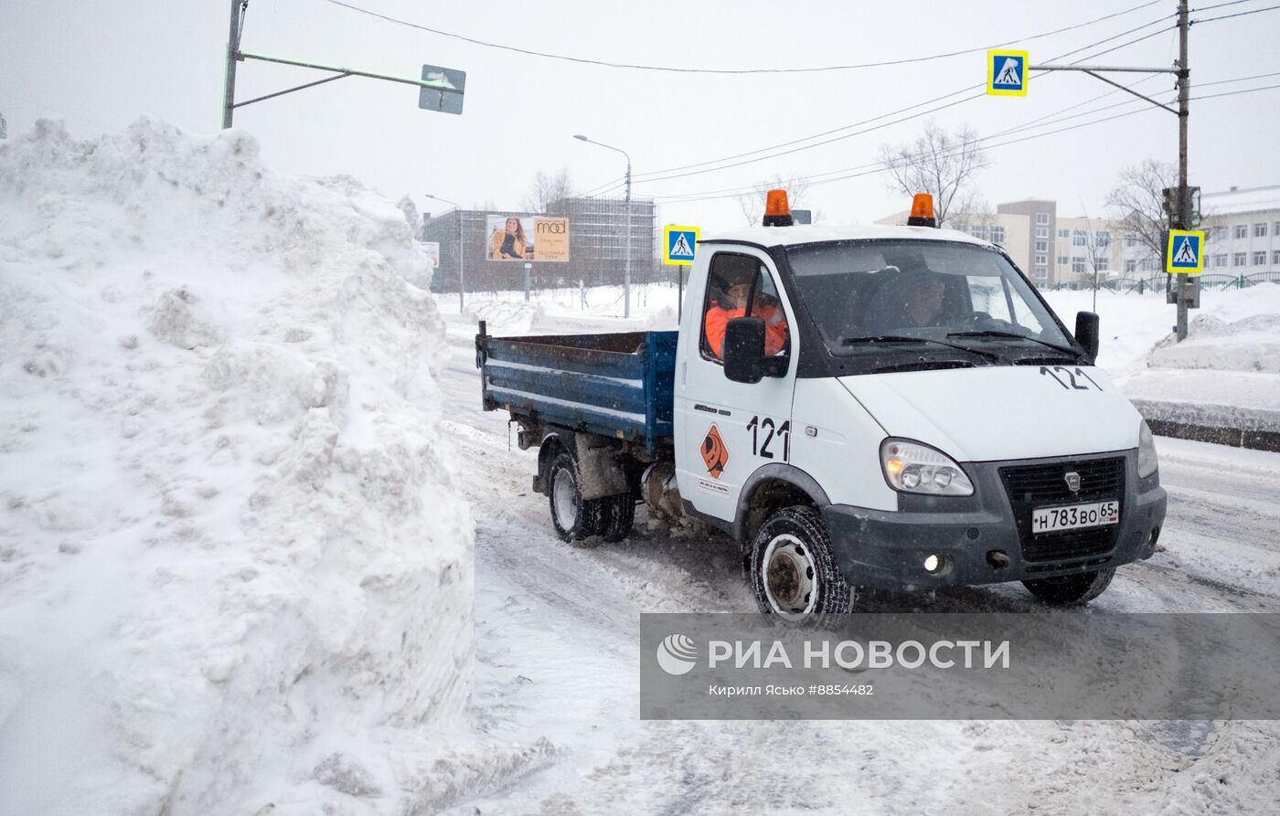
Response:
[{"label": "pale overcast sky behind the wires and crossing signs", "polygon": [[[343,0],[443,32],[559,56],[685,69],[795,69],[927,58],[1018,42],[1032,64],[1082,49],[1071,60],[1172,26],[1174,0],[1087,23],[1139,5],[1138,0],[1075,3],[410,3]],[[1207,6],[1220,5],[1208,9]],[[1265,9],[1274,3],[1192,3],[1193,19]],[[1146,23],[1164,22],[1116,37]],[[0,114],[9,137],[38,118],[63,119],[76,137],[122,129],[141,114],[183,129],[212,133],[221,123],[227,0],[3,0],[0,3]],[[1091,64],[1167,67],[1178,54],[1169,29]],[[1222,93],[1280,84],[1280,10],[1203,22],[1192,28],[1192,93]],[[991,139],[1036,136],[1130,110],[1101,124],[993,147],[978,179],[989,202],[1055,198],[1061,215],[1102,212],[1106,192],[1125,165],[1147,157],[1175,161],[1176,116],[1140,100],[1093,115],[1074,115],[1129,97],[1080,73],[1032,75],[1025,98],[980,96],[927,116],[888,124],[924,109],[883,116],[986,81],[980,51],[878,68],[817,73],[713,74],[611,68],[486,47],[343,8],[333,0],[251,0],[242,47],[270,55],[417,77],[424,63],[467,72],[461,116],[417,107],[411,86],[351,77],[236,113],[276,170],[346,173],[383,193],[411,194],[422,208],[461,202],[517,208],[539,169],[567,168],[580,191],[620,180],[625,159],[575,141],[626,150],[634,194],[653,196],[664,223],[704,229],[737,226],[732,200],[716,196],[776,173],[829,179],[861,173],[882,143],[911,139],[929,119],[972,125],[992,136],[1039,120],[1038,128]],[[246,100],[323,78],[317,72],[260,61],[238,68],[237,98]],[[1161,100],[1174,98],[1172,77],[1112,74]],[[980,88],[979,88],[980,91]],[[974,93],[977,91],[970,91]],[[961,93],[936,105],[961,100]],[[1147,110],[1149,107],[1149,110]],[[1192,102],[1190,180],[1206,191],[1280,184],[1280,88]],[[877,129],[768,156],[723,170],[654,179],[671,168],[837,130]],[[822,139],[818,139],[822,141]],[[804,147],[813,142],[792,145]],[[771,151],[780,152],[780,151]],[[760,155],[748,156],[759,159]],[[737,160],[741,161],[741,160]],[[694,168],[705,170],[717,165]],[[685,173],[682,170],[681,173]],[[621,189],[617,193],[621,196]],[[884,174],[815,184],[808,206],[826,220],[868,221],[902,210]]]}]

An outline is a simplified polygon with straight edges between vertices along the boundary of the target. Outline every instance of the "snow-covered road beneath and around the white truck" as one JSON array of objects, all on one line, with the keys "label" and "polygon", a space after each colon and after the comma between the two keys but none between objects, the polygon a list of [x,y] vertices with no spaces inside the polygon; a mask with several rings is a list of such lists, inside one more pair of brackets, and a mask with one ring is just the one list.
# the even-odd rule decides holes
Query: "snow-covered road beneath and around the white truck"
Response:
[{"label": "snow-covered road beneath and around the white truck", "polygon": [[[479,408],[468,329],[449,333],[447,427],[477,524],[471,716],[486,739],[550,744],[451,812],[1192,813],[1280,801],[1275,723],[640,721],[639,614],[754,609],[733,547],[646,530],[643,510],[621,544],[562,544],[530,490],[534,451],[508,448],[506,416]],[[1158,449],[1165,549],[1123,568],[1091,611],[1280,611],[1280,454]],[[1019,585],[864,604],[1041,609]]]}]

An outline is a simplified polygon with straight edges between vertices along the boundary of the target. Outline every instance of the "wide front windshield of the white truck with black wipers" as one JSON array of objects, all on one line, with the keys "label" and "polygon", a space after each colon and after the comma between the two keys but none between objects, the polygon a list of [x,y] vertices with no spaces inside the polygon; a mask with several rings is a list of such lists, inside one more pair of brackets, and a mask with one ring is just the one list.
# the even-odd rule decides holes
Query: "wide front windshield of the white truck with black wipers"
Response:
[{"label": "wide front windshield of the white truck with black wipers", "polygon": [[835,354],[874,353],[896,343],[950,354],[960,347],[992,358],[993,350],[1001,357],[1024,349],[1076,354],[1030,284],[995,249],[850,240],[791,247],[787,261],[800,299]]}]

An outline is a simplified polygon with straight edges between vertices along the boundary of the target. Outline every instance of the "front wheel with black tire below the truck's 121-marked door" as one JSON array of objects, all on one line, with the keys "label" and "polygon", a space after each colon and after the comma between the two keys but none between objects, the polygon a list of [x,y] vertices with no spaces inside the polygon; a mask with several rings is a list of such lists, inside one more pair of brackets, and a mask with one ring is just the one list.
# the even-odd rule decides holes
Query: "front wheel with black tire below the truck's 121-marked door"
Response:
[{"label": "front wheel with black tire below the truck's 121-marked door", "polygon": [[820,625],[849,611],[849,583],[836,567],[827,526],[813,508],[785,508],[765,519],[751,541],[750,564],[751,591],[767,615]]}]

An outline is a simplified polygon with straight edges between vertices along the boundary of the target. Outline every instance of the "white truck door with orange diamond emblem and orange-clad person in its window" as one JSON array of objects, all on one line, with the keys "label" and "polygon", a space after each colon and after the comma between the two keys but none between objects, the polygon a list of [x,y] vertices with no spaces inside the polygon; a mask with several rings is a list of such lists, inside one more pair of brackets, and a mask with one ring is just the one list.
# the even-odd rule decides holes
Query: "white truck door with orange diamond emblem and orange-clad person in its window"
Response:
[{"label": "white truck door with orange diamond emblem and orange-clad person in its window", "polygon": [[[790,459],[794,313],[767,255],[744,247],[712,256],[701,310],[689,310],[681,327],[698,341],[684,347],[676,372],[677,482],[701,513],[732,521],[748,477]],[[724,376],[723,325],[746,315],[765,320],[765,353],[788,361],[785,375],[754,384]]]}]

